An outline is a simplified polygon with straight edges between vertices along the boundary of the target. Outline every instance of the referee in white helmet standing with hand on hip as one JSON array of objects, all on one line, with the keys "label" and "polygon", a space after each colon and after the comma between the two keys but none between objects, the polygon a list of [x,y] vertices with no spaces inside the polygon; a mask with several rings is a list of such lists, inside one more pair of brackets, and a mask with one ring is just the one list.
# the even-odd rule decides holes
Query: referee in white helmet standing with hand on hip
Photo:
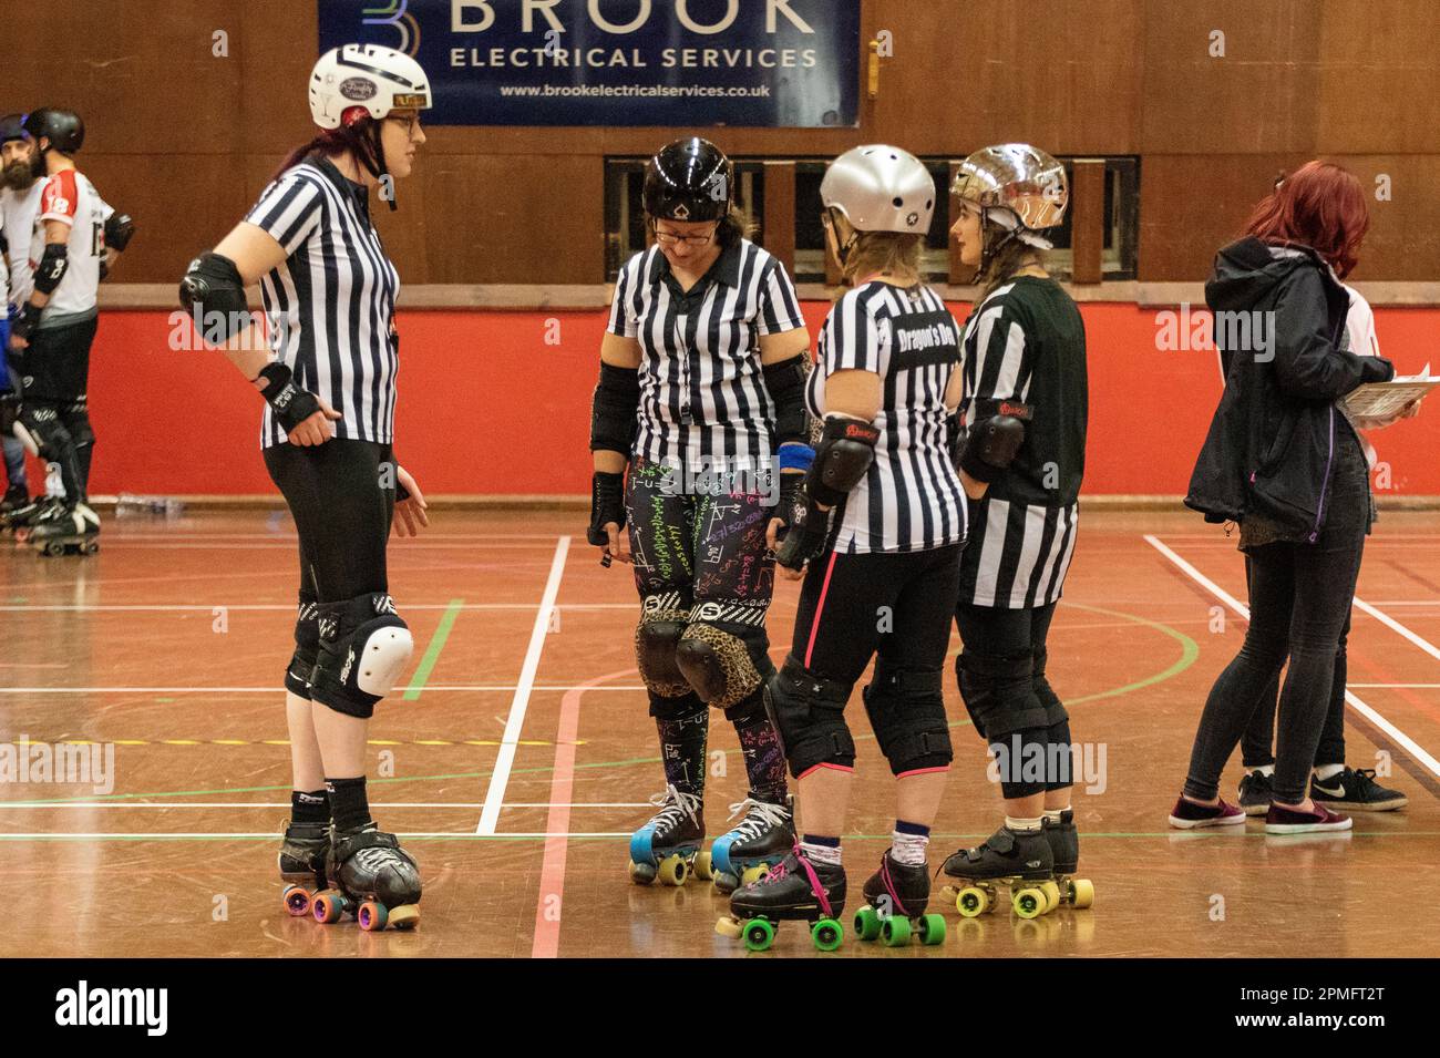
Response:
[{"label": "referee in white helmet standing with hand on hip", "polygon": [[[420,898],[416,864],[370,819],[364,782],[370,715],[413,649],[389,594],[386,540],[395,515],[399,535],[428,524],[392,449],[399,275],[370,220],[370,191],[379,187],[395,209],[393,181],[409,176],[425,143],[419,111],[429,105],[425,72],[400,52],[346,45],[323,55],[310,79],[321,132],[180,286],[197,330],[225,341],[265,397],[265,466],[300,534],[300,616],[285,672],[294,795],[281,874],[337,887],[363,928],[413,926]],[[243,288],[255,281],[268,340],[245,311]],[[288,890],[287,905],[304,914],[308,890]],[[333,894],[314,901],[321,921],[343,908]]]}]

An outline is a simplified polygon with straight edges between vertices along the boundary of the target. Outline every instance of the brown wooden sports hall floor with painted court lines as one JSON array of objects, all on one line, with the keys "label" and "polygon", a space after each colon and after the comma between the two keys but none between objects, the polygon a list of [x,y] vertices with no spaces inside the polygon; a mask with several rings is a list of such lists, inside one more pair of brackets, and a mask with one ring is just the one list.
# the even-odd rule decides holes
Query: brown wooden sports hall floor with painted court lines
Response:
[{"label": "brown wooden sports hall floor with painted court lines", "polygon": [[[289,767],[278,682],[295,584],[285,515],[108,521],[95,559],[0,554],[0,743],[89,741],[115,754],[108,790],[0,785],[0,956],[743,956],[713,933],[726,901],[708,887],[626,878],[626,838],[649,816],[661,770],[631,655],[634,587],[624,567],[600,569],[580,521],[451,512],[392,546],[416,658],[373,725],[370,792],[423,871],[423,921],[409,934],[281,910]],[[1440,517],[1387,514],[1351,636],[1349,761],[1388,754],[1405,810],[1359,816],[1342,838],[1273,839],[1259,822],[1179,833],[1165,816],[1201,704],[1244,629],[1224,594],[1244,602],[1241,559],[1194,515],[1087,514],[1050,674],[1094,766],[1074,803],[1096,907],[1037,921],[959,923],[952,911],[943,947],[847,939],[838,954],[1440,953],[1427,900],[1440,858],[1436,579]],[[770,613],[776,662],[795,600],[796,586],[782,586]],[[958,759],[939,855],[986,836],[999,808],[953,687],[946,701]],[[858,705],[850,720],[867,730]],[[744,795],[744,770],[723,721],[711,749],[726,751],[708,792],[714,835]],[[1237,754],[1223,786],[1231,799],[1238,769]],[[857,782],[845,856],[858,895],[893,822],[868,737]],[[795,926],[773,953],[816,957]]]}]

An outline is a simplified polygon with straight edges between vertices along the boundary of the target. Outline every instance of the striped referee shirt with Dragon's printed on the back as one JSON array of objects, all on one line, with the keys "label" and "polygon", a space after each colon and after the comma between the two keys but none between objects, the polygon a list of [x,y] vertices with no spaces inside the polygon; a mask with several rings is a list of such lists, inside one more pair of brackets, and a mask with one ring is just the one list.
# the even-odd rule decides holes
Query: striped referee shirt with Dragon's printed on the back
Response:
[{"label": "striped referee shirt with Dragon's printed on the back", "polygon": [[831,528],[842,554],[923,551],[965,540],[965,491],[945,438],[945,389],[960,367],[960,325],[929,286],[868,282],[847,291],[819,335],[805,400],[825,415],[825,379],[874,371],[884,380],[876,461]]}]

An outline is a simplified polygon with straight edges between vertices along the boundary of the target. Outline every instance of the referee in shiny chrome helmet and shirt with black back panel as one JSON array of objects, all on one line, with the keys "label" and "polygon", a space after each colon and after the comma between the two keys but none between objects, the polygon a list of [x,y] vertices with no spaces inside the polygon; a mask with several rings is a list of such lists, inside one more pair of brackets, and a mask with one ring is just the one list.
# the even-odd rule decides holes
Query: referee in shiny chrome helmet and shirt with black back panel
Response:
[{"label": "referee in shiny chrome helmet and shirt with black back panel", "polygon": [[[952,236],[981,285],[965,324],[960,417],[972,455],[960,469],[979,501],[962,563],[956,675],[989,743],[1005,822],[943,871],[959,887],[962,914],[984,911],[1004,880],[1015,908],[1031,915],[1061,895],[1077,907],[1093,897],[1087,881],[1068,884],[1079,859],[1070,717],[1045,675],[1084,476],[1084,321],[1044,268],[1044,232],[1068,203],[1058,161],[1030,144],[986,147],[960,164],[952,196]],[[1034,898],[1041,891],[1044,905]]]}]

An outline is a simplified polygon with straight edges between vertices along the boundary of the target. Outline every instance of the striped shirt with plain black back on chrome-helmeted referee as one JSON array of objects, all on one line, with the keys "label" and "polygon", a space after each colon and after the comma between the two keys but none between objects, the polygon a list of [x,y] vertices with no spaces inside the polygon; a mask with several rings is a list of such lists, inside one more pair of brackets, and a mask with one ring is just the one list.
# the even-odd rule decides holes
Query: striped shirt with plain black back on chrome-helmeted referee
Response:
[{"label": "striped shirt with plain black back on chrome-helmeted referee", "polygon": [[1024,406],[1025,443],[975,505],[960,602],[1034,609],[1057,599],[1074,554],[1089,416],[1084,321],[1054,279],[1018,276],[965,322],[966,426]]}]

